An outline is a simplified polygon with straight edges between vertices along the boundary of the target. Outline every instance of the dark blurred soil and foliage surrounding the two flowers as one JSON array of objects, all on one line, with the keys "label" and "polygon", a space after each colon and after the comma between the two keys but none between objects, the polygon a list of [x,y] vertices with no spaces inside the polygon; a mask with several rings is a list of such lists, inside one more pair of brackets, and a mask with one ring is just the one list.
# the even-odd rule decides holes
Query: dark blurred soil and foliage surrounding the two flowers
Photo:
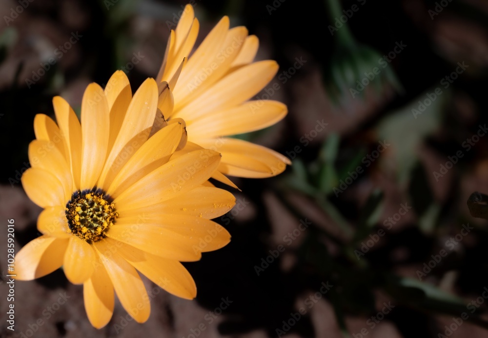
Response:
[{"label": "dark blurred soil and foliage surrounding the two flowers", "polygon": [[16,283],[6,328],[6,220],[17,250],[39,235],[20,185],[35,114],[54,116],[55,95],[79,113],[86,85],[117,69],[133,90],[155,77],[186,3],[1,1],[0,337],[487,337],[487,221],[467,205],[488,193],[483,0],[192,0],[198,41],[228,15],[280,64],[256,99],[288,115],[238,137],[293,165],[234,180],[237,205],[216,220],[231,243],[184,263],[196,300],[144,280],[149,320],[116,303],[96,330],[58,270]]}]

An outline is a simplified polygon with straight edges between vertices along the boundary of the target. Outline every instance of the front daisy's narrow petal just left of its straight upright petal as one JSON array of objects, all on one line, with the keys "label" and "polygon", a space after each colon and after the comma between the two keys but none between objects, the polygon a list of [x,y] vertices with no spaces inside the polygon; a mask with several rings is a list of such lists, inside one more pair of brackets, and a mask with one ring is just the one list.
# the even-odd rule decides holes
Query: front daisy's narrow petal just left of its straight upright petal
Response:
[{"label": "front daisy's narrow petal just left of its straight upright petal", "polygon": [[53,98],[54,113],[64,142],[66,159],[69,159],[74,188],[80,188],[81,178],[81,125],[73,109],[61,96]]}]

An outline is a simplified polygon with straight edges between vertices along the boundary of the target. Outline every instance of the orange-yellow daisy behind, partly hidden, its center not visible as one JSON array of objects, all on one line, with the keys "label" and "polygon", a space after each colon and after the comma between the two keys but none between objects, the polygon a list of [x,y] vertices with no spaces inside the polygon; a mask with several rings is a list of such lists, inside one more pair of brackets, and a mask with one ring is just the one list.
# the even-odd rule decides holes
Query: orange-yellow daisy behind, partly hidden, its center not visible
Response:
[{"label": "orange-yellow daisy behind, partly hidden, its center not visible", "polygon": [[[160,99],[164,118],[183,118],[188,130],[186,151],[217,150],[222,154],[214,178],[232,183],[223,175],[263,178],[283,172],[290,160],[276,151],[231,137],[269,127],[287,113],[285,104],[249,100],[276,75],[273,60],[253,62],[258,38],[243,26],[229,29],[224,17],[193,54],[199,30],[193,7],[186,5],[175,30],[171,30],[163,64],[157,76],[160,89],[169,85],[173,101]],[[183,61],[184,59],[184,61]],[[269,98],[263,94],[263,98]],[[198,146],[196,146],[198,145]]]}]

